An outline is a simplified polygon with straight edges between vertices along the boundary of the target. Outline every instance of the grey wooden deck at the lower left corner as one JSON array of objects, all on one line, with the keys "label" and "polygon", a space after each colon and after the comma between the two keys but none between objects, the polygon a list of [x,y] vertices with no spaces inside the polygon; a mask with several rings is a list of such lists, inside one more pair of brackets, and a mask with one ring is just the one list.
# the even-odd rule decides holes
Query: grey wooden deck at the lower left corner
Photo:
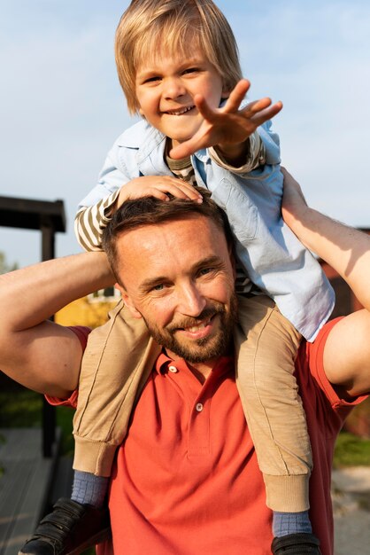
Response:
[{"label": "grey wooden deck at the lower left corner", "polygon": [[48,508],[58,449],[42,457],[40,428],[0,429],[0,436],[0,555],[14,555]]}]

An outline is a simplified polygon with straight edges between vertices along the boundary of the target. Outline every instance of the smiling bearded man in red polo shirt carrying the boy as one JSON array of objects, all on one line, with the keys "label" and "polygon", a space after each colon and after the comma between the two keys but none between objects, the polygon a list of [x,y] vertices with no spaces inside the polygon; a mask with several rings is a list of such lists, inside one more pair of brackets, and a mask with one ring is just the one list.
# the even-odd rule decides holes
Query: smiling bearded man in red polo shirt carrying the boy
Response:
[{"label": "smiling bearded man in red polo shirt carrying the boy", "polygon": [[[157,201],[140,202],[155,212]],[[114,552],[266,555],[271,552],[271,512],[230,349],[235,324],[231,238],[208,199],[202,205],[179,199],[164,205],[160,211],[167,213],[160,223],[153,223],[154,212],[149,223],[147,215],[136,219],[134,227],[119,232],[108,253],[127,308],[133,317],[143,317],[153,337],[166,346],[118,452],[110,492]],[[330,555],[335,435],[359,395],[370,390],[370,238],[307,207],[289,175],[283,215],[365,307],[327,324],[297,357],[314,458],[312,525],[321,552]],[[1,368],[27,387],[70,397],[73,403],[81,340],[77,330],[45,318],[112,284],[104,254],[46,262],[1,278]],[[109,545],[105,549],[112,552]],[[274,552],[297,551],[281,546]],[[320,551],[312,546],[311,552]]]}]

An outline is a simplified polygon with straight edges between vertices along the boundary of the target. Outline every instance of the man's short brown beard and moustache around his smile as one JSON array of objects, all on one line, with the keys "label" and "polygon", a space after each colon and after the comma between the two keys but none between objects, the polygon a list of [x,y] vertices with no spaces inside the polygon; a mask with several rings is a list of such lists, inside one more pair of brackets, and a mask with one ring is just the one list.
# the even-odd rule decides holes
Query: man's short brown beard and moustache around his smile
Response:
[{"label": "man's short brown beard and moustache around his smile", "polygon": [[[198,340],[179,340],[175,333],[183,328],[197,326],[206,319],[220,317],[219,330],[211,337]],[[145,320],[150,335],[162,347],[172,351],[188,363],[205,363],[227,353],[233,338],[234,325],[237,320],[237,301],[233,293],[229,309],[218,301],[210,301],[208,306],[197,317],[183,317],[179,322],[158,328],[154,323]]]}]

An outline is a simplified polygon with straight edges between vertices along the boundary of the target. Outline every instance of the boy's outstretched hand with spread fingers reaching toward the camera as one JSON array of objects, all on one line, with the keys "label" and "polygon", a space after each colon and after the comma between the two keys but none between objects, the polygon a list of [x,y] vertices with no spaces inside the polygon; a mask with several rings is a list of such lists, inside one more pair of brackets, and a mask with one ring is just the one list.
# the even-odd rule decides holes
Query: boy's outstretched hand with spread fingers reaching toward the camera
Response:
[{"label": "boy's outstretched hand with spread fingers reaching toward the camera", "polygon": [[180,160],[209,146],[218,146],[227,161],[233,162],[241,158],[246,149],[247,138],[282,108],[281,102],[273,105],[270,98],[261,98],[240,110],[250,86],[249,81],[242,79],[231,91],[225,106],[215,110],[207,105],[202,95],[196,95],[194,103],[204,121],[193,137],[170,151],[171,158]]}]

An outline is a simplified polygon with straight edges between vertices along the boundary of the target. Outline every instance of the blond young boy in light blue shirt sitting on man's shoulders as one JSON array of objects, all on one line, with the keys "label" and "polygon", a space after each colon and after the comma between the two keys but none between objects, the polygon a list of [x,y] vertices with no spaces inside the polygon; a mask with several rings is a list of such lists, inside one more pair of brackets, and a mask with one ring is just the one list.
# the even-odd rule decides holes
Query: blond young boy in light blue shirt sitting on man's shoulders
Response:
[{"label": "blond young boy in light blue shirt sitting on man's shoulders", "polygon": [[[116,62],[128,109],[143,121],[119,137],[98,185],[81,202],[81,246],[102,249],[104,227],[127,199],[166,201],[172,194],[201,201],[193,184],[212,192],[235,233],[237,382],[273,510],[273,550],[320,553],[308,516],[312,457],[293,371],[301,334],[313,340],[334,295],[281,220],[278,138],[265,123],[281,104],[265,98],[243,105],[249,83],[242,80],[235,38],[210,0],[134,0],[119,22]],[[121,345],[132,347],[122,352]],[[129,317],[122,303],[108,324],[90,333],[74,419],[77,508],[104,505],[115,449],[125,438],[143,371],[159,351],[143,320]],[[62,512],[60,505],[54,511]],[[73,519],[78,527],[79,517]],[[41,551],[51,543],[39,530],[21,552],[66,552]]]}]

